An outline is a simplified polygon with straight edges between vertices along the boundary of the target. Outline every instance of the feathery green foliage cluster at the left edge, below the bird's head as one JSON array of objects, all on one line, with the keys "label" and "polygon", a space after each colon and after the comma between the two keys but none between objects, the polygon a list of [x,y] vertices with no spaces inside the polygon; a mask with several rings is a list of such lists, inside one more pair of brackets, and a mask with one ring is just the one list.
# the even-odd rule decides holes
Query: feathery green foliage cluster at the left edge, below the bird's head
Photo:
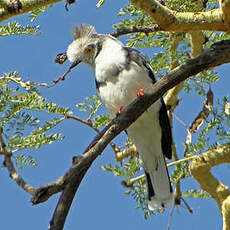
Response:
[{"label": "feathery green foliage cluster at the left edge, below the bird's head", "polygon": [[[39,112],[59,115],[59,118],[42,122],[35,116]],[[69,113],[68,108],[47,102],[39,94],[36,85],[23,81],[17,72],[0,77],[0,127],[8,152],[16,154],[62,139],[60,133],[50,131]],[[17,155],[15,161],[19,168],[22,168],[23,164],[36,166],[34,159],[24,154]]]}]

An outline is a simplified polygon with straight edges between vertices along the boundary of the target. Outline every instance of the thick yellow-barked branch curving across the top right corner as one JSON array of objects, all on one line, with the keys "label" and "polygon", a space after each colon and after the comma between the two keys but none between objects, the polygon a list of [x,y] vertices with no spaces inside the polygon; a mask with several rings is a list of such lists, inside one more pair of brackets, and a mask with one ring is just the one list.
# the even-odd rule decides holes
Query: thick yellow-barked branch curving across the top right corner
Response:
[{"label": "thick yellow-barked branch curving across the top right corner", "polygon": [[177,12],[163,6],[157,0],[129,1],[145,11],[165,31],[230,30],[226,16],[229,15],[227,4],[229,0],[222,1],[226,3],[222,4],[222,10],[214,9],[205,12]]}]

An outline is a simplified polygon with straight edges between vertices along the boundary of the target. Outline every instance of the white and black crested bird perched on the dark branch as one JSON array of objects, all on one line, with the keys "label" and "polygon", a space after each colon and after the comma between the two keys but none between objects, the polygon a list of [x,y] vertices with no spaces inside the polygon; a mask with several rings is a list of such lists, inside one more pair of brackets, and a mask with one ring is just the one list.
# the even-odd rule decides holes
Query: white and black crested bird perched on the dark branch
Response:
[{"label": "white and black crested bird perched on the dark branch", "polygon": [[[71,68],[80,63],[93,68],[97,93],[111,118],[137,97],[151,93],[157,80],[141,52],[126,47],[109,34],[97,33],[89,24],[75,25],[72,35],[73,41],[66,52]],[[163,98],[151,105],[126,132],[143,162],[148,209],[172,206],[173,189],[165,160],[172,158],[172,131]]]}]

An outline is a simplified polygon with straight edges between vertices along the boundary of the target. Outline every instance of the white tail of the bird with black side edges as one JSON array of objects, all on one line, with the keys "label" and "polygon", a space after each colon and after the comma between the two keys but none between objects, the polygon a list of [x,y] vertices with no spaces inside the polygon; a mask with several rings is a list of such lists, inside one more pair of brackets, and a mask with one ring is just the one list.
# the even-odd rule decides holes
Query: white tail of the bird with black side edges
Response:
[{"label": "white tail of the bird with black side edges", "polygon": [[156,167],[145,171],[148,188],[148,208],[150,210],[172,206],[173,190],[163,154],[158,156]]}]

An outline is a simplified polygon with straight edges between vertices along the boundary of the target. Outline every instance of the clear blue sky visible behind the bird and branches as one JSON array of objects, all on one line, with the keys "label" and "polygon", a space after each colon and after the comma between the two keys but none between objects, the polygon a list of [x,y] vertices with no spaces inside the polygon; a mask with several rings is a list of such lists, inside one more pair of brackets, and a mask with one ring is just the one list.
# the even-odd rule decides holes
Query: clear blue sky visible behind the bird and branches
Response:
[{"label": "clear blue sky visible behind the bird and branches", "polygon": [[[56,54],[66,50],[72,41],[71,30],[74,24],[88,23],[96,27],[99,33],[112,32],[112,25],[119,18],[117,13],[127,1],[108,0],[101,8],[96,8],[96,1],[80,0],[64,9],[64,2],[55,4],[46,13],[40,15],[33,23],[29,16],[18,16],[8,21],[19,21],[22,25],[40,25],[40,36],[11,36],[0,39],[1,57],[0,71],[18,71],[23,79],[51,83],[66,70],[69,63],[57,65],[53,62]],[[7,22],[8,22],[7,21]],[[6,22],[3,22],[3,25]],[[145,51],[144,51],[145,52]],[[150,54],[153,50],[146,51]],[[230,84],[227,72],[229,65],[217,68],[221,73],[221,80],[214,85],[215,95],[229,94]],[[75,104],[82,102],[88,95],[95,93],[93,71],[86,65],[75,68],[67,79],[51,89],[41,89],[41,93],[48,100],[62,106],[70,107],[78,116],[83,116],[75,108]],[[198,96],[182,93],[183,100],[176,114],[187,124],[197,115],[202,107]],[[199,105],[194,107],[193,105]],[[39,116],[46,117],[46,114]],[[63,141],[42,147],[31,153],[39,166],[25,167],[21,174],[35,187],[48,183],[63,175],[71,166],[74,155],[81,154],[90,143],[95,133],[88,127],[74,121],[65,121],[58,131],[66,136]],[[185,139],[185,129],[175,122],[174,135],[176,146],[183,151],[182,142]],[[119,142],[119,138],[117,138]],[[75,196],[65,229],[167,229],[169,212],[150,217],[147,221],[141,211],[135,210],[135,201],[124,195],[125,189],[120,185],[121,179],[99,169],[103,164],[114,162],[114,155],[108,147],[95,161],[84,178],[77,195]],[[223,170],[224,169],[224,170]],[[229,169],[227,169],[229,170]],[[47,229],[59,195],[38,206],[32,206],[30,195],[19,188],[12,181],[6,169],[0,171],[0,213],[1,226],[5,230],[13,229]],[[230,184],[229,177],[225,176],[226,167],[218,167],[215,175]],[[229,172],[229,171],[227,171]],[[188,179],[182,183],[184,188],[198,188],[196,182]],[[183,207],[176,208],[173,214],[171,229],[220,229],[221,216],[213,200],[192,200],[187,202],[193,208],[190,214]]]}]

